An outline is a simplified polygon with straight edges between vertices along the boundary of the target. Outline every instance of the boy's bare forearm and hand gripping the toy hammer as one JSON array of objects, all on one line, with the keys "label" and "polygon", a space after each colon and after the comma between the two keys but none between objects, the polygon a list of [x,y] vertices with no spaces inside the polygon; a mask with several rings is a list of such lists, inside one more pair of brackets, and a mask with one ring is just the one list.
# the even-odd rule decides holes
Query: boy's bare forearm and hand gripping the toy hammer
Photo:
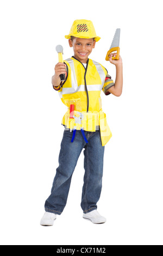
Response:
[{"label": "boy's bare forearm and hand gripping the toy hammer", "polygon": [[64,63],[57,63],[57,65],[55,65],[55,74],[54,76],[52,76],[52,84],[53,84],[53,87],[55,89],[55,87],[59,87],[60,85],[60,75],[61,74],[66,74],[66,64]]}]

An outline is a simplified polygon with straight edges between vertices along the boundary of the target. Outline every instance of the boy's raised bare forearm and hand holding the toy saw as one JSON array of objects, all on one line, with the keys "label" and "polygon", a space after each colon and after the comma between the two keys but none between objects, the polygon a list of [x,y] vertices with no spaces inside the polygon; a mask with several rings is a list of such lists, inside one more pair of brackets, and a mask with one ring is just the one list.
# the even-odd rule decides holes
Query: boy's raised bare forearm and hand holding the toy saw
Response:
[{"label": "boy's raised bare forearm and hand holding the toy saw", "polygon": [[122,87],[123,87],[123,66],[122,66],[122,58],[118,60],[112,59],[112,57],[115,57],[116,53],[109,55],[109,61],[111,64],[114,64],[116,66],[116,80],[114,86],[108,89],[108,92],[111,94],[114,94],[115,96],[121,96],[122,94]]}]

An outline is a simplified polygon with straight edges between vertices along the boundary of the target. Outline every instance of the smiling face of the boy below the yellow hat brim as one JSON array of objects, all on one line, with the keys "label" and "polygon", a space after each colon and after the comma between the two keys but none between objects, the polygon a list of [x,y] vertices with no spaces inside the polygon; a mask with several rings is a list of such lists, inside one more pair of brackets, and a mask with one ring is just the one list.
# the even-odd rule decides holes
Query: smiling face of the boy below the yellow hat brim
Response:
[{"label": "smiling face of the boy below the yellow hat brim", "polygon": [[74,57],[82,63],[86,63],[92,49],[95,48],[96,41],[85,38],[74,38],[68,40],[70,47],[73,47]]}]

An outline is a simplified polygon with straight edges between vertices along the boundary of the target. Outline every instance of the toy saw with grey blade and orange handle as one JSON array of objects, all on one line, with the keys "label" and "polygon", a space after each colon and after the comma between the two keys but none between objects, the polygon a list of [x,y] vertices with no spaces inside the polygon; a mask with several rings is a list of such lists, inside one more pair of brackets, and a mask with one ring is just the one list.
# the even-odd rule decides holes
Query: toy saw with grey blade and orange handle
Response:
[{"label": "toy saw with grey blade and orange handle", "polygon": [[117,51],[117,55],[116,55],[116,57],[112,57],[112,59],[119,59],[120,58],[120,33],[121,33],[121,29],[117,28],[116,32],[115,32],[115,35],[114,35],[114,38],[112,40],[112,44],[110,46],[110,50],[106,54],[105,60],[109,60],[109,54],[111,52],[115,52],[115,51]]}]

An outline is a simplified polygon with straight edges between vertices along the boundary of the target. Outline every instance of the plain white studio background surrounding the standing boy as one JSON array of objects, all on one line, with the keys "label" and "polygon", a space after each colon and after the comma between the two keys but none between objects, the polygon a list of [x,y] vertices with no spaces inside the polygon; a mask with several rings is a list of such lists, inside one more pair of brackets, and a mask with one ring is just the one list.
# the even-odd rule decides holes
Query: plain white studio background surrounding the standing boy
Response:
[{"label": "plain white studio background surrounding the standing boy", "polygon": [[[162,1],[1,0],[1,244],[162,245]],[[51,191],[66,107],[52,88],[58,62],[73,55],[64,35],[76,19],[92,20],[101,36],[90,58],[105,61],[121,28],[121,97],[102,93],[112,138],[105,147],[98,211],[107,222],[82,218],[83,154],[66,208],[41,227]]]}]

